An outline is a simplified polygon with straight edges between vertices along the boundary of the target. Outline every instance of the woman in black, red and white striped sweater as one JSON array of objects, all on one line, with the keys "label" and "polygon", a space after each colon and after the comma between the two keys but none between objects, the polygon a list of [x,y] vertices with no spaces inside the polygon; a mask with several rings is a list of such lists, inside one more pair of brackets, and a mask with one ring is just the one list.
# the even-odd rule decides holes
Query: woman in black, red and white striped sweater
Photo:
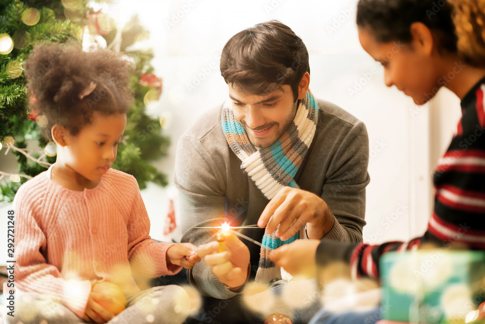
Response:
[{"label": "woman in black, red and white striped sweater", "polygon": [[[416,104],[433,98],[442,86],[461,100],[462,118],[434,175],[434,211],[426,233],[409,242],[376,246],[296,241],[274,251],[277,265],[296,272],[311,263],[298,261],[313,260],[314,265],[316,255],[322,266],[343,261],[354,278],[378,279],[379,259],[388,251],[452,243],[485,249],[484,21],[483,0],[359,0],[359,40],[383,65],[386,85],[395,85]],[[399,51],[396,44],[402,45]],[[323,309],[310,323],[371,324],[379,316],[376,310],[337,316]]]}]

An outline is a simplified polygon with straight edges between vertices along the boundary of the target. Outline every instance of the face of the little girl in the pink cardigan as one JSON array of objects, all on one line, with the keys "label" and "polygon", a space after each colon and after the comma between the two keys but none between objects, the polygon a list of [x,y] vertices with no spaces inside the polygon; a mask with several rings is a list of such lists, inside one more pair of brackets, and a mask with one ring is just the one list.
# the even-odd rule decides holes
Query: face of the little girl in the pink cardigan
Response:
[{"label": "face of the little girl in the pink cardigan", "polygon": [[126,114],[106,116],[95,111],[91,124],[76,136],[66,136],[65,165],[87,180],[99,181],[116,159],[126,122]]}]

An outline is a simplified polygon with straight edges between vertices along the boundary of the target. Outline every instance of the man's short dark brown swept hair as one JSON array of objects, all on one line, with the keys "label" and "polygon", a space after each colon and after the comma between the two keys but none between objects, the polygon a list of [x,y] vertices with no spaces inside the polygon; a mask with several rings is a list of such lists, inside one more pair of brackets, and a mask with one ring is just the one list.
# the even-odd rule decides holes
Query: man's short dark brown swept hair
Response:
[{"label": "man's short dark brown swept hair", "polygon": [[298,99],[298,85],[306,72],[308,51],[290,27],[272,20],[235,34],[221,54],[221,74],[227,84],[256,95],[290,85]]}]

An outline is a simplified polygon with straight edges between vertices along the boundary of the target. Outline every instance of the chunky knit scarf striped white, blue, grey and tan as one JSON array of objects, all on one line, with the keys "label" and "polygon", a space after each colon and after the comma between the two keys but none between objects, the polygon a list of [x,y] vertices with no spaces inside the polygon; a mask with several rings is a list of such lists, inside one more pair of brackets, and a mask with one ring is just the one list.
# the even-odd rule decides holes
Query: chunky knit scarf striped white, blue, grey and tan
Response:
[{"label": "chunky knit scarf striped white, blue, grey and tan", "polygon": [[[300,102],[295,118],[276,142],[267,148],[256,149],[246,131],[232,112],[232,102],[227,100],[222,108],[222,129],[231,150],[241,159],[241,169],[251,177],[264,196],[271,200],[283,187],[298,188],[293,177],[308,152],[318,119],[318,105],[310,91]],[[286,241],[272,233],[264,234],[256,280],[275,282],[282,279],[281,269],[268,258],[271,250],[295,239],[303,238],[303,230]]]}]

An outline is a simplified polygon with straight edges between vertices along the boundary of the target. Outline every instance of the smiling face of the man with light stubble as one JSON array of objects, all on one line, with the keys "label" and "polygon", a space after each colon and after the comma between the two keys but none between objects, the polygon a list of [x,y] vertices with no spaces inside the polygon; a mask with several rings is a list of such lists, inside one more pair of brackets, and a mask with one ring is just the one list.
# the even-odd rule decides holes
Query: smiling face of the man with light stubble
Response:
[{"label": "smiling face of the man with light stubble", "polygon": [[290,85],[281,85],[268,95],[253,95],[229,84],[232,111],[255,147],[270,147],[283,134],[296,114]]}]

